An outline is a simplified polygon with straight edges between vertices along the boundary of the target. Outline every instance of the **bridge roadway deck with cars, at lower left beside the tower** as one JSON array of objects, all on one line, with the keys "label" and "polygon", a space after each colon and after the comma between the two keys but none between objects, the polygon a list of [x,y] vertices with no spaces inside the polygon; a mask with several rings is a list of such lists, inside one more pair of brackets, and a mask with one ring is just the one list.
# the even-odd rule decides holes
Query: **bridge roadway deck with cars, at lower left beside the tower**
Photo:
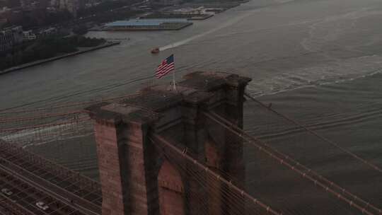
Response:
[{"label": "bridge roadway deck with cars, at lower left beside the tower", "polygon": [[0,140],[0,214],[97,215],[101,205],[98,182]]}]

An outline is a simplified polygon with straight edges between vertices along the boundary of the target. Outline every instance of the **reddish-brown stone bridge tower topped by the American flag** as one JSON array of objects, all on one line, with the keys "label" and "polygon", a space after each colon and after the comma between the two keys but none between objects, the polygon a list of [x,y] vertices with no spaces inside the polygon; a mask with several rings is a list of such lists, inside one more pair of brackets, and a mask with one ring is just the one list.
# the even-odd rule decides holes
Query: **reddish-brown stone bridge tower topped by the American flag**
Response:
[{"label": "reddish-brown stone bridge tower topped by the American flag", "polygon": [[[207,120],[213,110],[243,127],[243,93],[250,79],[236,74],[195,72],[169,86],[152,86],[118,103],[87,108],[96,133],[103,215],[229,214],[228,205],[200,190],[195,178],[163,156],[151,141],[160,134],[195,155],[214,170],[224,170],[244,185],[245,165],[240,139]],[[206,181],[208,182],[208,181]],[[208,202],[188,195],[209,197]],[[237,211],[236,211],[237,212]]]}]

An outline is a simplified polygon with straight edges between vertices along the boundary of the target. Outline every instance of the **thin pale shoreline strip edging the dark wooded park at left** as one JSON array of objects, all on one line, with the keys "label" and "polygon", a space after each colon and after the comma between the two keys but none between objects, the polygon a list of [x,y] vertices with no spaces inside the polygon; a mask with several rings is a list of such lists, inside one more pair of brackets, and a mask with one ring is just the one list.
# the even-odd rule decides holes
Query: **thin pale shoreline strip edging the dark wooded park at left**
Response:
[{"label": "thin pale shoreline strip edging the dark wooded park at left", "polygon": [[11,68],[1,70],[0,71],[0,75],[7,74],[7,73],[10,73],[12,71],[18,71],[18,70],[25,69],[25,68],[32,67],[32,66],[37,66],[37,65],[40,65],[40,64],[45,64],[47,62],[54,62],[54,61],[56,61],[58,59],[63,59],[63,58],[66,58],[66,57],[71,57],[71,56],[75,56],[75,55],[78,55],[78,54],[83,54],[83,53],[86,53],[86,52],[91,52],[91,51],[94,51],[94,50],[100,50],[100,49],[103,49],[103,48],[106,48],[106,47],[111,47],[111,46],[114,46],[114,45],[120,45],[120,43],[121,43],[120,41],[117,41],[117,42],[116,41],[107,41],[103,45],[98,45],[96,47],[88,47],[88,48],[86,48],[86,50],[79,50],[77,52],[71,52],[69,54],[62,54],[62,55],[59,55],[59,56],[56,56],[56,57],[50,57],[50,58],[47,58],[47,59],[40,59],[40,60],[37,60],[35,62],[21,64],[19,66],[13,66]]}]

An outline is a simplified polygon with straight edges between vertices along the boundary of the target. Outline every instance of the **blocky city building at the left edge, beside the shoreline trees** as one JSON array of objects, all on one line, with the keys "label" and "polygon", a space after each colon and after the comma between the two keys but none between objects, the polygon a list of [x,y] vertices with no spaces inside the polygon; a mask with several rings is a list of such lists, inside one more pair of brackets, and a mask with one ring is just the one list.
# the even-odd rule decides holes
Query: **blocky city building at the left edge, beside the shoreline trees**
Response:
[{"label": "blocky city building at the left edge, beside the shoreline trees", "polygon": [[23,27],[13,26],[0,30],[0,52],[10,50],[13,45],[23,42]]}]

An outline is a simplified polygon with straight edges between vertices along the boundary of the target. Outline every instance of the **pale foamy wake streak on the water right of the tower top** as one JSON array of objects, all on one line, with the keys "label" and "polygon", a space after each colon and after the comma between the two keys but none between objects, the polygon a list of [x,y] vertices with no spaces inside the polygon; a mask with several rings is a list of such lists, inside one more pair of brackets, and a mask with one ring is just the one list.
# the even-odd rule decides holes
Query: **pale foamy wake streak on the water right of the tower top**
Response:
[{"label": "pale foamy wake streak on the water right of the tower top", "polygon": [[287,71],[266,79],[253,81],[248,85],[248,93],[255,97],[273,95],[299,88],[342,83],[382,73],[382,57],[367,56],[332,62],[314,67]]}]

